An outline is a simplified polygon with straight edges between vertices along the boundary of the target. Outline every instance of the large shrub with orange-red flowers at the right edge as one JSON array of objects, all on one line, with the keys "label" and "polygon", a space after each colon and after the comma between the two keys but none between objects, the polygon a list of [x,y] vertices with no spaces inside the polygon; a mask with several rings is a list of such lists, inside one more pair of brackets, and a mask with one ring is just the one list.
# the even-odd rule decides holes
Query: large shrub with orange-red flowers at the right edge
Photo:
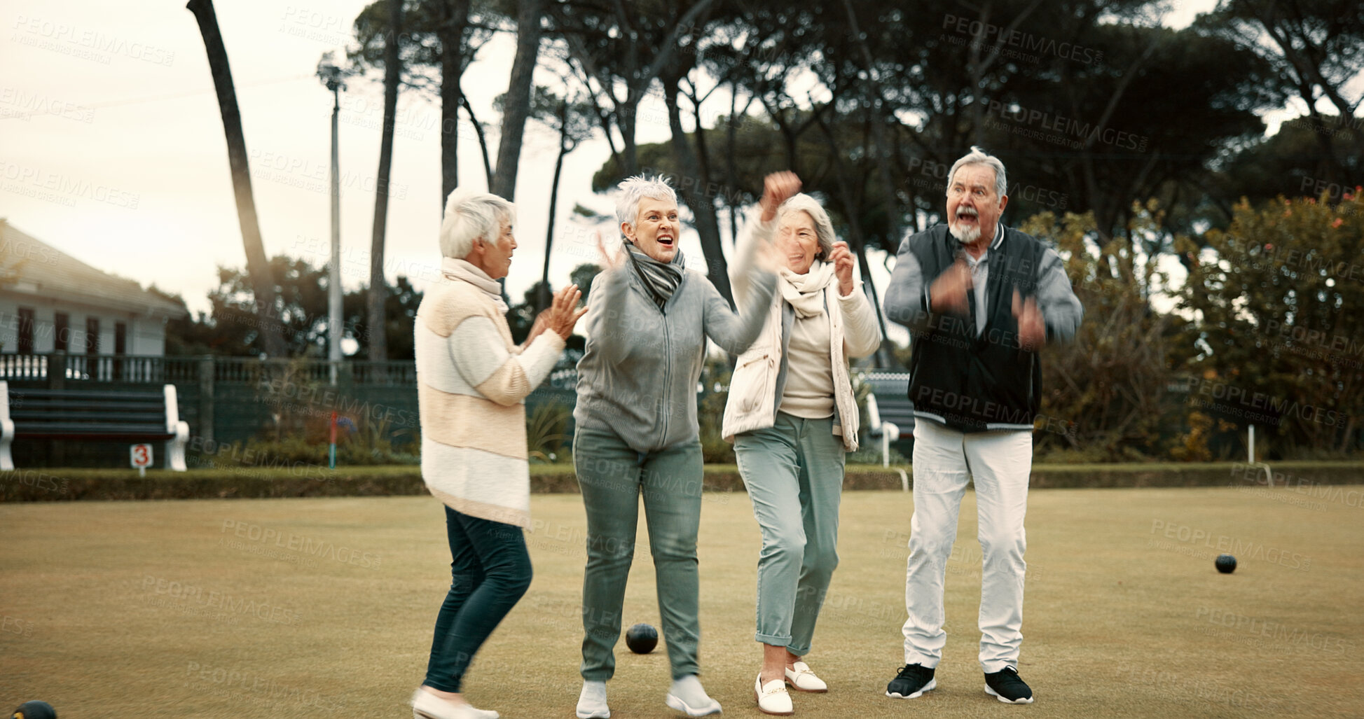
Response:
[{"label": "large shrub with orange-red flowers at the right edge", "polygon": [[1241,202],[1206,247],[1181,247],[1180,307],[1196,321],[1185,340],[1196,348],[1191,398],[1263,427],[1271,458],[1360,447],[1364,196],[1330,199]]}]

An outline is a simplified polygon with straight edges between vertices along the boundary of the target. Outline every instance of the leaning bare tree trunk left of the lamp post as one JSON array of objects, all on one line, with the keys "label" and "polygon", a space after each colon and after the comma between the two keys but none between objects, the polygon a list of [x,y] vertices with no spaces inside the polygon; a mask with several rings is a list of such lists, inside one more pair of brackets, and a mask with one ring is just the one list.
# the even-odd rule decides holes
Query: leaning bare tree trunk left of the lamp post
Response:
[{"label": "leaning bare tree trunk left of the lamp post", "polygon": [[186,8],[194,14],[203,35],[203,48],[209,53],[209,70],[213,74],[213,87],[218,94],[218,111],[222,113],[222,131],[228,141],[228,164],[232,168],[232,191],[237,199],[237,221],[241,225],[241,243],[247,252],[247,274],[251,276],[251,291],[255,293],[258,315],[261,312],[261,344],[265,353],[273,357],[288,355],[280,318],[276,311],[274,277],[265,255],[265,241],[261,239],[261,222],[255,213],[255,198],[251,194],[251,168],[247,164],[247,141],[241,131],[241,111],[237,108],[237,91],[232,85],[232,68],[228,65],[228,50],[222,45],[218,30],[218,16],[213,11],[213,0],[190,0]]}]

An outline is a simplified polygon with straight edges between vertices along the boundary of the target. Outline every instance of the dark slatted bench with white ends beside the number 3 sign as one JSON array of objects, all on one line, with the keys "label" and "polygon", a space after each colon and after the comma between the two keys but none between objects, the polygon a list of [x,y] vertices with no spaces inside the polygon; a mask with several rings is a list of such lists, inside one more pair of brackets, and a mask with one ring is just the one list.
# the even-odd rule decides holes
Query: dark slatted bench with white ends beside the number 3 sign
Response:
[{"label": "dark slatted bench with white ends beside the number 3 sign", "polygon": [[0,469],[14,469],[15,439],[165,441],[165,463],[186,471],[190,426],[175,385],[160,390],[10,389],[0,381]]}]

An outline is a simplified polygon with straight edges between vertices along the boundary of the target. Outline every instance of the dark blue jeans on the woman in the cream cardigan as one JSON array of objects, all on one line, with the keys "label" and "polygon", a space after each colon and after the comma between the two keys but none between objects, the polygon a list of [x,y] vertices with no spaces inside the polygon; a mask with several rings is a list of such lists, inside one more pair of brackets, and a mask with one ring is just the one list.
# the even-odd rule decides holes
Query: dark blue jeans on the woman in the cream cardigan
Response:
[{"label": "dark blue jeans on the woman in the cream cardigan", "polygon": [[521,528],[445,508],[450,535],[450,591],[435,619],[426,686],[458,692],[464,671],[531,587],[531,555]]}]

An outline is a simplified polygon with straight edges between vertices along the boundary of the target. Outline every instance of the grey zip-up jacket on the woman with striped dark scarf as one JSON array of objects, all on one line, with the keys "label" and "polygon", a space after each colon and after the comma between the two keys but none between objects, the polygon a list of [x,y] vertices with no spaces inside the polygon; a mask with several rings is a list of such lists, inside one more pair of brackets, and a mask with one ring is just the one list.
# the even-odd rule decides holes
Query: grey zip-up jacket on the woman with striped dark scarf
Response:
[{"label": "grey zip-up jacket on the woman with striped dark scarf", "polygon": [[749,277],[753,302],[739,315],[700,272],[682,273],[662,311],[629,263],[597,274],[584,317],[577,426],[611,430],[636,452],[696,441],[705,338],[741,355],[768,317],[776,274],[753,270]]}]

